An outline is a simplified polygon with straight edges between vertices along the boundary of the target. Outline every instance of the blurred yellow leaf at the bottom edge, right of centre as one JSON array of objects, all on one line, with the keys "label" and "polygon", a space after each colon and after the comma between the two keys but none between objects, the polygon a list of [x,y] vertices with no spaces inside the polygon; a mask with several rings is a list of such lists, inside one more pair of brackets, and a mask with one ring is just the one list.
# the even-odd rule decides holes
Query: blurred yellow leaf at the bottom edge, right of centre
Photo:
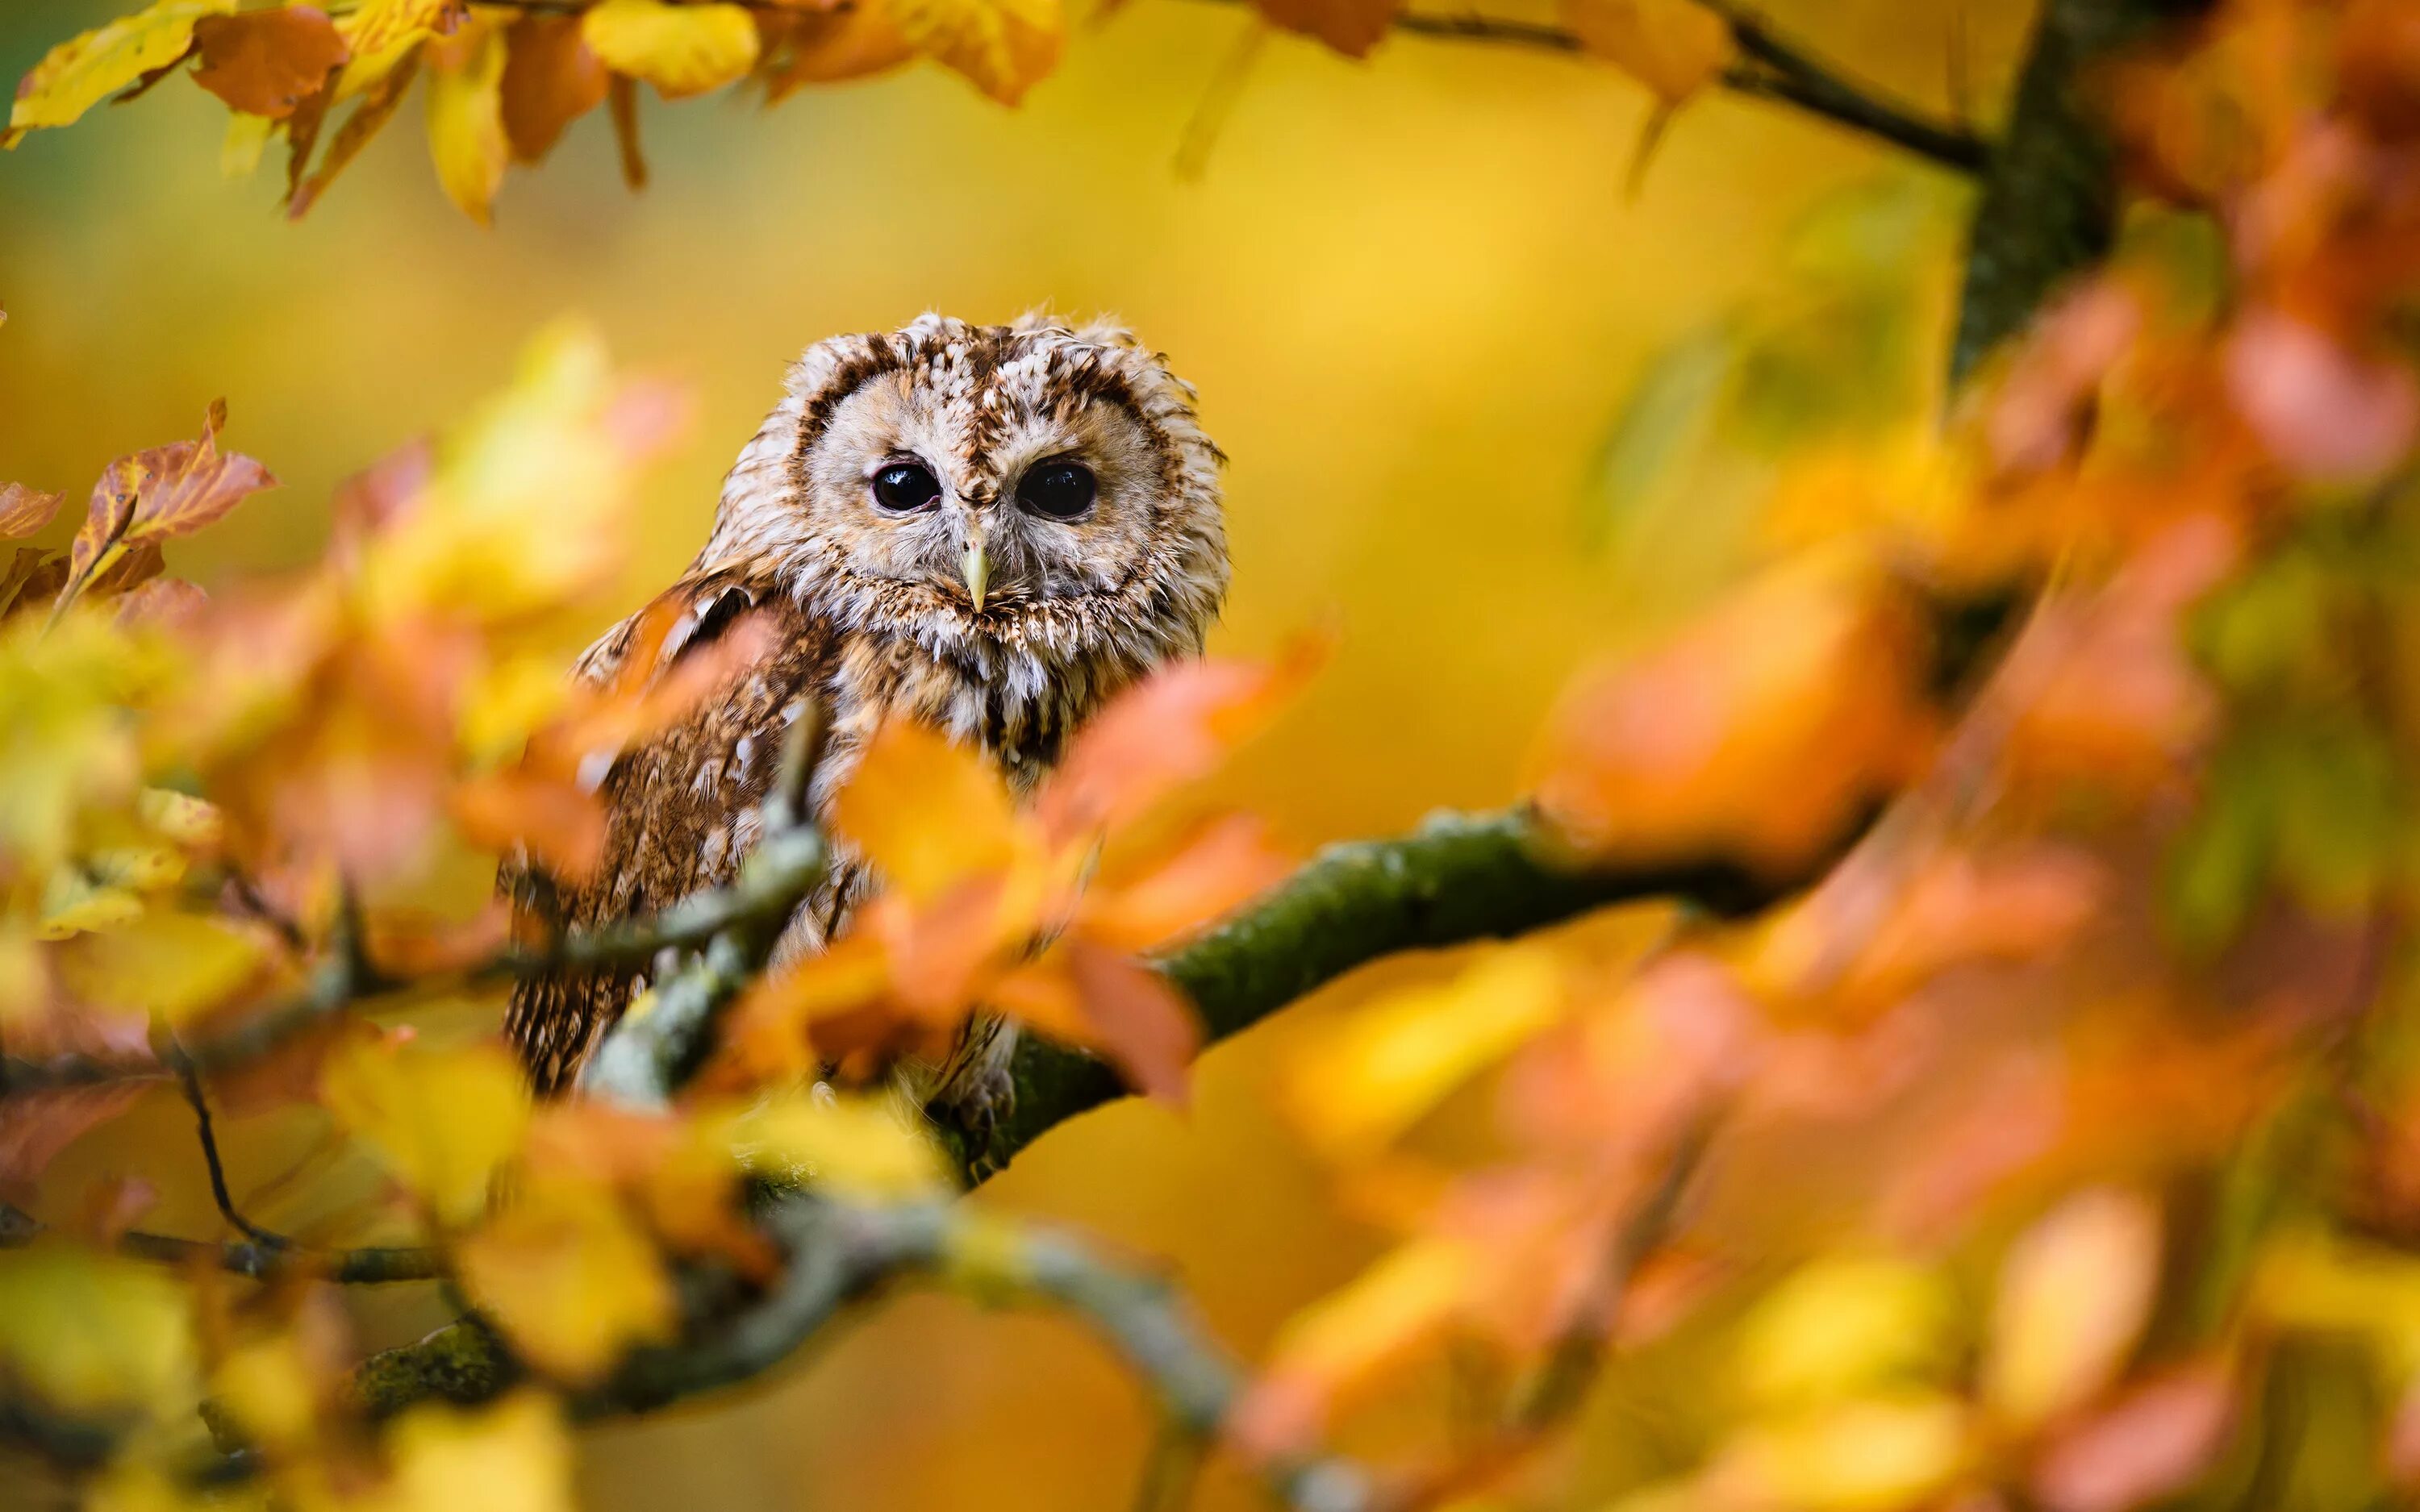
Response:
[{"label": "blurred yellow leaf at the bottom edge, right of centre", "polygon": [[1718,1507],[1888,1512],[1936,1497],[1967,1456],[1951,1396],[1854,1401],[1742,1430],[1704,1483]]}]

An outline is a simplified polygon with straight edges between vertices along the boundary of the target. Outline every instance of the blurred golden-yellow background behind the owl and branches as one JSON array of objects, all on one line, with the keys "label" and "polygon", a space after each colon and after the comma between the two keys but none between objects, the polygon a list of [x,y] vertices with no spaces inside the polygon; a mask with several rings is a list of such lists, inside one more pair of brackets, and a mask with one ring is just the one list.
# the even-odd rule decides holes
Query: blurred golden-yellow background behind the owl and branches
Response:
[{"label": "blurred golden-yellow background behind the owl and branches", "polygon": [[[119,10],[0,5],[0,75]],[[1771,5],[1866,77],[1936,106],[1963,90],[1987,116],[2028,12],[1975,0],[1909,24],[1919,12],[1885,0]],[[692,438],[651,484],[636,602],[687,561],[721,467],[803,344],[927,307],[1108,310],[1200,385],[1234,457],[1217,644],[1341,636],[1222,796],[1304,847],[1503,803],[1568,670],[1650,634],[1699,576],[1653,537],[1585,544],[1597,457],[1646,363],[1786,290],[1796,227],[1844,189],[1897,177],[1946,210],[1960,191],[1728,97],[1692,104],[1634,186],[1638,87],[1561,56],[1423,39],[1365,65],[1273,39],[1203,172],[1179,174],[1244,27],[1227,5],[1128,0],[1079,24],[1016,111],[929,65],[770,114],[649,99],[644,196],[624,194],[590,119],[506,184],[494,230],[440,196],[416,111],[300,225],[278,220],[276,165],[215,177],[225,114],[198,90],[97,111],[0,157],[0,479],[80,496],[109,457],[191,433],[225,394],[230,445],[286,489],[174,544],[172,571],[208,585],[302,561],[336,479],[460,414],[535,327],[578,312],[617,358],[697,394]],[[1914,276],[1953,276],[1953,247],[1909,254]],[[1331,987],[1215,1050],[1188,1113],[1082,1118],[980,1200],[1164,1263],[1256,1352],[1375,1243],[1268,1113],[1273,1052],[1425,970],[1382,963]],[[182,1125],[167,1103],[70,1152],[56,1178],[186,1149],[162,1137]],[[286,1154],[271,1130],[230,1130],[240,1185]],[[208,1227],[196,1173],[143,1173],[167,1193],[160,1227]],[[1650,1403],[1600,1406],[1626,1427],[1595,1449],[1580,1435],[1583,1454],[1653,1435]],[[1358,1425],[1355,1442],[1433,1430],[1408,1413]],[[908,1299],[755,1393],[588,1432],[581,1473],[590,1507],[632,1512],[1108,1510],[1128,1505],[1150,1427],[1133,1384],[1067,1323]],[[1212,1476],[1198,1505],[1256,1502]]]}]

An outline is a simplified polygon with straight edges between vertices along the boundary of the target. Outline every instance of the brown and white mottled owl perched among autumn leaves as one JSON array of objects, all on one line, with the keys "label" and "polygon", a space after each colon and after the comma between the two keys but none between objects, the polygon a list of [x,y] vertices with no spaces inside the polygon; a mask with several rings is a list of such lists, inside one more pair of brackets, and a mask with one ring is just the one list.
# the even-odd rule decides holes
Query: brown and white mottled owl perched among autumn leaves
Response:
[{"label": "brown and white mottled owl perched among autumn leaves", "polygon": [[[724,479],[704,549],[656,600],[649,624],[675,612],[673,629],[624,619],[578,677],[627,687],[632,656],[663,677],[743,617],[772,627],[772,651],[583,772],[607,808],[603,864],[578,885],[508,868],[518,902],[578,929],[728,883],[801,709],[825,719],[818,818],[891,719],[1031,791],[1106,699],[1200,653],[1227,593],[1222,462],[1193,387],[1113,324],[924,314],[811,346]],[[774,960],[823,948],[878,885],[835,847]],[[564,973],[513,992],[506,1035],[542,1096],[578,1079],[641,987],[636,973]],[[920,1093],[995,1108],[1012,1043],[978,1016]]]}]

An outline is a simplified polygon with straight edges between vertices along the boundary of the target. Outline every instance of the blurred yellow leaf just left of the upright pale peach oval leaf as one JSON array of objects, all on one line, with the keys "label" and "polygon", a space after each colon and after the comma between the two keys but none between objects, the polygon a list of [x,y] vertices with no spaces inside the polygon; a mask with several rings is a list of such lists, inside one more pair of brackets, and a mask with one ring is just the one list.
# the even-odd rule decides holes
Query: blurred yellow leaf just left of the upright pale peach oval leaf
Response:
[{"label": "blurred yellow leaf just left of the upright pale peach oval leaf", "polygon": [[1827,1258],[1798,1268],[1740,1323],[1740,1386],[1767,1408],[1810,1408],[1948,1369],[1958,1297],[1926,1265]]}]

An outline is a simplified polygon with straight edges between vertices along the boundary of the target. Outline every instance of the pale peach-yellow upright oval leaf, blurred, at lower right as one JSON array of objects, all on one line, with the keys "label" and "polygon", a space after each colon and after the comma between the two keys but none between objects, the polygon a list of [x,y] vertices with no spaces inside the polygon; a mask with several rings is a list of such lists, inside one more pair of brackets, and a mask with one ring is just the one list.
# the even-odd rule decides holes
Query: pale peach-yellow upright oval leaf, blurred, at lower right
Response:
[{"label": "pale peach-yellow upright oval leaf, blurred, at lower right", "polygon": [[2159,1229],[2142,1193],[2093,1188],[2009,1246],[1982,1369],[1999,1420],[2038,1427],[2118,1377],[2159,1292]]}]

